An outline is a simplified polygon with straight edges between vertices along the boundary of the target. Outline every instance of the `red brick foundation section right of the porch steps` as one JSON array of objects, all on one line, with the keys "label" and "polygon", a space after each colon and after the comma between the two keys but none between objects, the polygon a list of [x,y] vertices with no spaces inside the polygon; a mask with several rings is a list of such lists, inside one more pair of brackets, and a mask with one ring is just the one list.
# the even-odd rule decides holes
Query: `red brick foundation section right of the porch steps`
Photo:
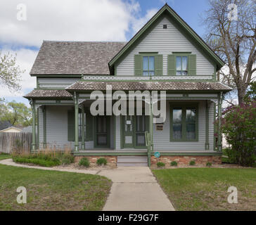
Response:
[{"label": "red brick foundation section right of the porch steps", "polygon": [[179,165],[189,165],[190,161],[195,161],[196,165],[206,165],[207,162],[211,162],[212,165],[214,164],[221,164],[222,163],[222,157],[221,156],[215,156],[215,155],[191,155],[191,156],[165,156],[162,155],[160,158],[155,158],[155,156],[151,156],[151,166],[156,165],[158,162],[165,163],[166,167],[170,166],[170,163],[172,161],[176,161]]}]

